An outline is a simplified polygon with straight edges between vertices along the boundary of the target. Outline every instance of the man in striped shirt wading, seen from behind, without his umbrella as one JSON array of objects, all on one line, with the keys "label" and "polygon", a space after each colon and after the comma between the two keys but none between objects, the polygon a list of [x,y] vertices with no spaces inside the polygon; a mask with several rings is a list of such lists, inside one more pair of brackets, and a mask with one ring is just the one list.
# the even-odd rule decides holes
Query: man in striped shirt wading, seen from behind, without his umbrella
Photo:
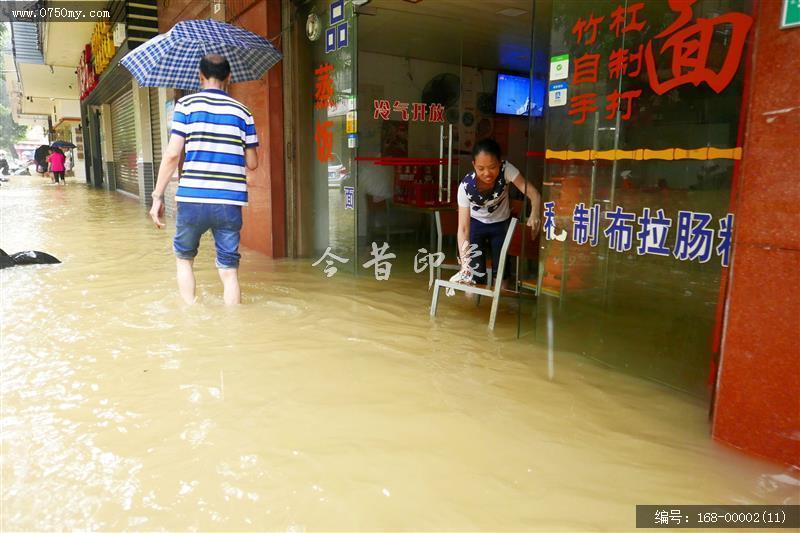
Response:
[{"label": "man in striped shirt wading, seen from behind, without his umbrella", "polygon": [[178,216],[173,249],[178,265],[178,290],[186,303],[195,301],[192,269],[200,237],[211,230],[225,303],[241,303],[239,232],[242,206],[247,204],[245,167],[258,167],[258,138],[253,115],[228,96],[228,60],[210,54],[200,60],[198,93],[175,103],[172,134],[158,169],[150,216],[163,228],[164,190],[186,148],[178,190]]}]

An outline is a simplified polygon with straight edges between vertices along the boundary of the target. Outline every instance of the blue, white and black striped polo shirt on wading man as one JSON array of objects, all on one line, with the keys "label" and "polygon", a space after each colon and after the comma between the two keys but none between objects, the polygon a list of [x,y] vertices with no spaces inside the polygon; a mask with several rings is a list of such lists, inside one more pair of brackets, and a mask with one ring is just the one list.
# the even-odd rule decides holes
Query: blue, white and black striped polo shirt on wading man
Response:
[{"label": "blue, white and black striped polo shirt on wading man", "polygon": [[219,89],[175,103],[172,133],[186,139],[175,199],[204,204],[247,204],[246,148],[258,146],[250,111]]}]

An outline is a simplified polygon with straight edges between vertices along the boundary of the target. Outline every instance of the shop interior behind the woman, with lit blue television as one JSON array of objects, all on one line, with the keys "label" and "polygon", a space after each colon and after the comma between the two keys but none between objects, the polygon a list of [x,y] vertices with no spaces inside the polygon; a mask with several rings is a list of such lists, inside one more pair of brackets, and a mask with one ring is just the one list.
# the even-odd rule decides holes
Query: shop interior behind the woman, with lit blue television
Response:
[{"label": "shop interior behind the woman, with lit blue television", "polygon": [[[372,242],[433,246],[433,211],[454,216],[477,140],[497,140],[528,176],[545,92],[531,78],[532,2],[373,0],[358,13],[359,254]],[[376,112],[381,101],[390,113]]]}]

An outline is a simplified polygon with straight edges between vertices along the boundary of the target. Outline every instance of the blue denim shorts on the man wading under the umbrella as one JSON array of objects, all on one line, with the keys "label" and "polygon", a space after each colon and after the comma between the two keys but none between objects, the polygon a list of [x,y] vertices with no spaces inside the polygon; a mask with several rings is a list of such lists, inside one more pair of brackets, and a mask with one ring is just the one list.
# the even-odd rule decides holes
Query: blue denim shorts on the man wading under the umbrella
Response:
[{"label": "blue denim shorts on the man wading under the umbrella", "polygon": [[211,230],[217,249],[217,268],[239,267],[242,206],[178,202],[178,220],[172,247],[180,259],[194,259],[200,237]]}]

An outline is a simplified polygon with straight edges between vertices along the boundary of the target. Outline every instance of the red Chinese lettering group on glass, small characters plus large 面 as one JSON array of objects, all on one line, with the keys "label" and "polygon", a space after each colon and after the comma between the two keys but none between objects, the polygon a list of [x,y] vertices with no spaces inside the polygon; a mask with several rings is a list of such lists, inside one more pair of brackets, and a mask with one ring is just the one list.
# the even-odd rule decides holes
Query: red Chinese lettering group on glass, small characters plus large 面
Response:
[{"label": "red Chinese lettering group on glass, small characters plus large \u9762", "polygon": [[[577,53],[551,58],[550,68],[551,81],[570,81],[568,115],[572,122],[584,124],[598,111],[606,120],[629,120],[643,90],[659,96],[689,85],[709,87],[715,93],[725,90],[742,62],[753,18],[738,12],[698,15],[697,3],[669,0],[671,23],[639,44],[629,44],[637,42],[631,36],[660,22],[645,18],[644,1],[579,15],[568,28]],[[597,4],[598,10],[601,5]],[[607,49],[609,39],[613,42],[610,52],[601,52]],[[601,41],[603,46],[599,46]],[[645,89],[624,90],[616,83],[615,89],[598,92],[606,81],[642,77],[647,82]]]}]

